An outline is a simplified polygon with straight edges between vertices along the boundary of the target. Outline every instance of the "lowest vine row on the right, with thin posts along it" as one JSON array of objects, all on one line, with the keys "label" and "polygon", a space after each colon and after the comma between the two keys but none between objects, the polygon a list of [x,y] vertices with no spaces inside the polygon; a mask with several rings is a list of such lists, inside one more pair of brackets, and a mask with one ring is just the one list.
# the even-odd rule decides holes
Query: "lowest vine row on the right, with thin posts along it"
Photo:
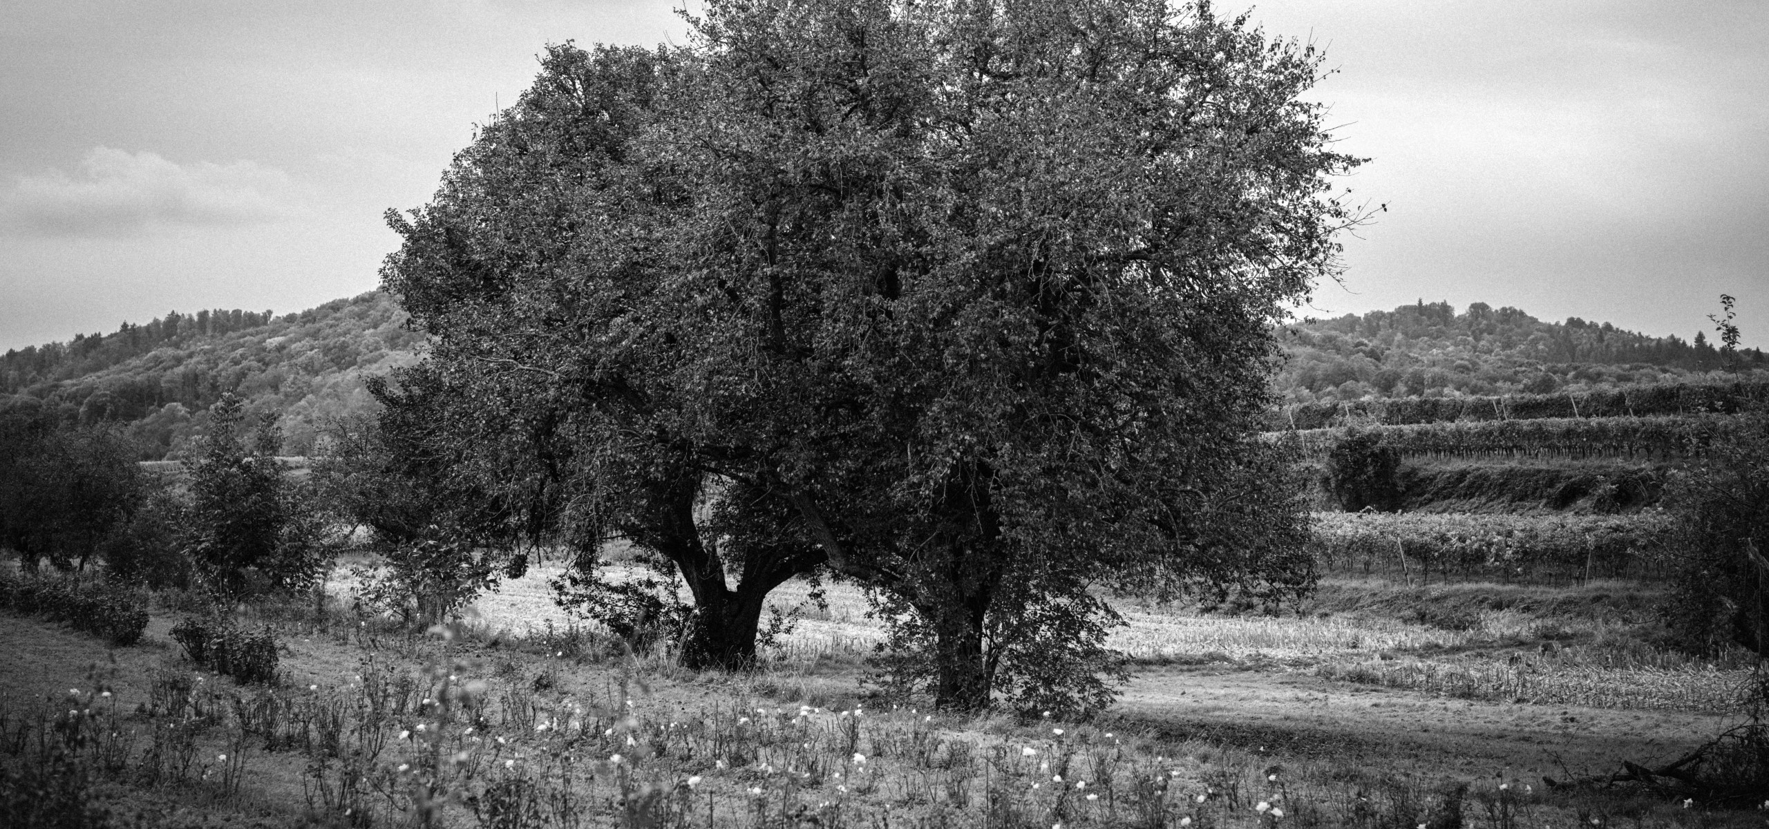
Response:
[{"label": "lowest vine row on the right, with thin posts along it", "polygon": [[1670,521],[1626,516],[1470,513],[1316,513],[1314,557],[1325,571],[1530,578],[1638,578],[1658,571]]}]

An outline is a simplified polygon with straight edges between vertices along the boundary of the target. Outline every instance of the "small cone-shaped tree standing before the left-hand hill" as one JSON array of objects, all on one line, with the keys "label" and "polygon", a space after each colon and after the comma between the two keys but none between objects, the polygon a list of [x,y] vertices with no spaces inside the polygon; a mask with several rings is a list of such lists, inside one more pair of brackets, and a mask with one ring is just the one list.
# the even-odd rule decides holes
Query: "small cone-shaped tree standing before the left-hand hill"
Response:
[{"label": "small cone-shaped tree standing before the left-hand hill", "polygon": [[223,394],[189,465],[184,550],[202,585],[223,605],[315,585],[334,539],[315,504],[288,481],[274,417],[251,431],[244,405]]}]

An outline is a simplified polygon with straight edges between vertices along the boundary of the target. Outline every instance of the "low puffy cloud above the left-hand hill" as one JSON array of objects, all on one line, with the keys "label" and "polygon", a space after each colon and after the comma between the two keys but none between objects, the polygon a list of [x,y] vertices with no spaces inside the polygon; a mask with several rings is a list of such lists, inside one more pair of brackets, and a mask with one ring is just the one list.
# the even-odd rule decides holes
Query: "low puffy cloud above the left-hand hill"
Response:
[{"label": "low puffy cloud above the left-hand hill", "polygon": [[96,147],[74,175],[23,175],[0,193],[5,224],[34,235],[129,235],[168,224],[251,224],[292,212],[290,179],[255,161],[179,164]]}]

